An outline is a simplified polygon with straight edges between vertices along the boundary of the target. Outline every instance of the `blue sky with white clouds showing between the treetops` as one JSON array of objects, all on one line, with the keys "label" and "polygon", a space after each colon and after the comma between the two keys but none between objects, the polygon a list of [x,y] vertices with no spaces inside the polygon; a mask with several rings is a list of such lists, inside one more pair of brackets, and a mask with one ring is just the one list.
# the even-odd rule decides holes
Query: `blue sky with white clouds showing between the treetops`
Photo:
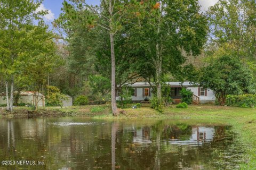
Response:
[{"label": "blue sky with white clouds showing between the treetops", "polygon": [[[49,14],[44,16],[46,22],[51,23],[54,19],[57,19],[59,14],[61,13],[63,0],[44,0],[43,4],[38,8],[41,10],[48,10]],[[90,5],[99,5],[100,0],[86,0],[86,2]],[[217,3],[218,0],[199,0],[199,3],[202,5],[201,11],[205,12],[207,8]]]}]

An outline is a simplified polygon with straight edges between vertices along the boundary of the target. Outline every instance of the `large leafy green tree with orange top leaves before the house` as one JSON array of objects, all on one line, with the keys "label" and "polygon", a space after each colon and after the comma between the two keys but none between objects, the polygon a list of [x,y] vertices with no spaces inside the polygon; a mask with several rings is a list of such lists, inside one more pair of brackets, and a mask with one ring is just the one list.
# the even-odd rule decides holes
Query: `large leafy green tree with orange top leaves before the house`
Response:
[{"label": "large leafy green tree with orange top leaves before the house", "polygon": [[148,72],[154,70],[153,78],[147,80],[156,84],[155,95],[161,100],[164,75],[175,77],[186,61],[185,54],[201,53],[206,42],[207,20],[200,13],[198,0],[148,0],[140,2],[137,11],[141,15],[132,20],[133,43],[144,50],[146,59],[140,60],[150,63]]}]

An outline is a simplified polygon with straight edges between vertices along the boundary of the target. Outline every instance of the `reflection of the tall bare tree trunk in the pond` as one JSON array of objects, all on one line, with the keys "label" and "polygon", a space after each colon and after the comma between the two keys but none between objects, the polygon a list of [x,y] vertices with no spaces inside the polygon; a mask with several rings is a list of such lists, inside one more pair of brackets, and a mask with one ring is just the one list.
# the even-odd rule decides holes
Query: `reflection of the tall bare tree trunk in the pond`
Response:
[{"label": "reflection of the tall bare tree trunk in the pond", "polygon": [[116,132],[118,130],[118,124],[113,123],[111,130],[111,164],[112,170],[116,168]]}]

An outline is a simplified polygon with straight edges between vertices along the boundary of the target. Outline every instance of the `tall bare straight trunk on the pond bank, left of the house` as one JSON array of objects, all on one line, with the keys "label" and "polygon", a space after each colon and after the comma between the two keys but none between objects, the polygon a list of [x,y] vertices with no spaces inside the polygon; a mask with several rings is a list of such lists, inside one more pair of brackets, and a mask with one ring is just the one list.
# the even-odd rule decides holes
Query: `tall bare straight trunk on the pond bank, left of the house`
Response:
[{"label": "tall bare straight trunk on the pond bank, left of the house", "polygon": [[113,116],[118,116],[118,111],[116,107],[116,60],[115,60],[115,46],[114,46],[114,32],[113,32],[113,5],[112,1],[109,0],[109,36],[110,36],[110,46],[111,46],[111,107]]}]

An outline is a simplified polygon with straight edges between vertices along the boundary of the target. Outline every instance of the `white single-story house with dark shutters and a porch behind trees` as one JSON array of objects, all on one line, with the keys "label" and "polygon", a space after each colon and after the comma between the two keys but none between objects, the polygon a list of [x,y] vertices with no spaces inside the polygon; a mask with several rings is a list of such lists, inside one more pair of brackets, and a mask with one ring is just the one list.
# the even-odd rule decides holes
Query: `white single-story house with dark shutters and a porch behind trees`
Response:
[{"label": "white single-story house with dark shutters and a porch behind trees", "polygon": [[[136,82],[134,84],[127,85],[133,88],[132,92],[132,101],[139,103],[147,99],[153,98],[153,92],[151,86],[148,82]],[[173,99],[174,103],[180,103],[181,94],[180,90],[182,88],[190,89],[193,96],[194,104],[206,104],[215,102],[215,94],[211,89],[205,89],[203,87],[195,87],[194,84],[186,82],[166,82],[166,86],[171,87],[170,97]],[[116,100],[121,100],[119,93],[117,92]]]}]

